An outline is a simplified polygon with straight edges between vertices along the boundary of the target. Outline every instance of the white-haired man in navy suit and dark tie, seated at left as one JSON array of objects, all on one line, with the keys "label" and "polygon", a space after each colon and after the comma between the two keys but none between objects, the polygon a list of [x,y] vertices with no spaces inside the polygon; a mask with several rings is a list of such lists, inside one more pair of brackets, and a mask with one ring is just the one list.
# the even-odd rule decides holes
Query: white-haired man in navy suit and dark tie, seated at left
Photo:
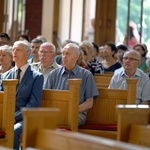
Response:
[{"label": "white-haired man in navy suit and dark tie, seated at left", "polygon": [[[32,69],[27,60],[30,46],[24,41],[16,41],[12,47],[15,67],[2,75],[2,79],[17,78],[16,108],[14,122],[14,149],[19,150],[22,134],[22,107],[39,107],[42,99],[43,75]],[[3,90],[3,86],[1,86]]]}]

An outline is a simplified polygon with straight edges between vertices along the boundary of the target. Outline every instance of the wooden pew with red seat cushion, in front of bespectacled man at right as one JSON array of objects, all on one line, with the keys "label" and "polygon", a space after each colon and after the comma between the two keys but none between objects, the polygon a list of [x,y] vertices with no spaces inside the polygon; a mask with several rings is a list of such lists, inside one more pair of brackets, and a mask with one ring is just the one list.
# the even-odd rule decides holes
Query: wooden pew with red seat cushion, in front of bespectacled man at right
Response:
[{"label": "wooden pew with red seat cushion, in front of bespectacled man at right", "polygon": [[98,88],[100,95],[94,100],[84,126],[79,132],[117,138],[117,104],[136,103],[136,83],[138,79],[127,79],[127,90]]}]

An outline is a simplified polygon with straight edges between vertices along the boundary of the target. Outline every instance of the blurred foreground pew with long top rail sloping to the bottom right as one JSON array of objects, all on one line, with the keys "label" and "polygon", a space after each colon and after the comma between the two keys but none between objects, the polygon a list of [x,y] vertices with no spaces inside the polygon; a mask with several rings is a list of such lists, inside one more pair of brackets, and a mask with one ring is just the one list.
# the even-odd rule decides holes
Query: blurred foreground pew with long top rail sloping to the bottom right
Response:
[{"label": "blurred foreground pew with long top rail sloping to the bottom right", "polygon": [[[28,111],[29,110],[29,111]],[[148,150],[149,148],[125,144],[115,140],[82,133],[54,130],[58,111],[55,109],[23,109],[23,149],[36,150]],[[45,125],[46,124],[46,125]],[[48,124],[48,126],[47,126]],[[52,126],[52,129],[51,128]],[[34,150],[35,150],[34,149]]]}]

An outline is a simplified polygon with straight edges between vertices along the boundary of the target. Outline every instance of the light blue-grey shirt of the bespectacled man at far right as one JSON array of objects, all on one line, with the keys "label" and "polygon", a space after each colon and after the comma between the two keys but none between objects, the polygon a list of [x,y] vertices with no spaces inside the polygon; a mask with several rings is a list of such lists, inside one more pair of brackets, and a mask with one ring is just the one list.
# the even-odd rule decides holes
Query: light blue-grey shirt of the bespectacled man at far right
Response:
[{"label": "light blue-grey shirt of the bespectacled man at far right", "polygon": [[[126,78],[128,78],[123,67],[117,69],[110,81],[109,88],[114,89],[127,89]],[[136,91],[136,104],[142,101],[150,100],[150,79],[140,69],[137,68],[132,78],[138,78],[137,91]]]}]

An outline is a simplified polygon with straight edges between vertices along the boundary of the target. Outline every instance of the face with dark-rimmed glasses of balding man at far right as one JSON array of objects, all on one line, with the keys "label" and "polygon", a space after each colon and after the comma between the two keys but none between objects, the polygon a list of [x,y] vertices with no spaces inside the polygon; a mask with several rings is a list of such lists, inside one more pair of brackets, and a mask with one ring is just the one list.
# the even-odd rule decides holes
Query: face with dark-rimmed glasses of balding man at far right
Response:
[{"label": "face with dark-rimmed glasses of balding man at far right", "polygon": [[123,56],[125,70],[135,70],[139,66],[139,59],[135,53],[127,52]]}]

